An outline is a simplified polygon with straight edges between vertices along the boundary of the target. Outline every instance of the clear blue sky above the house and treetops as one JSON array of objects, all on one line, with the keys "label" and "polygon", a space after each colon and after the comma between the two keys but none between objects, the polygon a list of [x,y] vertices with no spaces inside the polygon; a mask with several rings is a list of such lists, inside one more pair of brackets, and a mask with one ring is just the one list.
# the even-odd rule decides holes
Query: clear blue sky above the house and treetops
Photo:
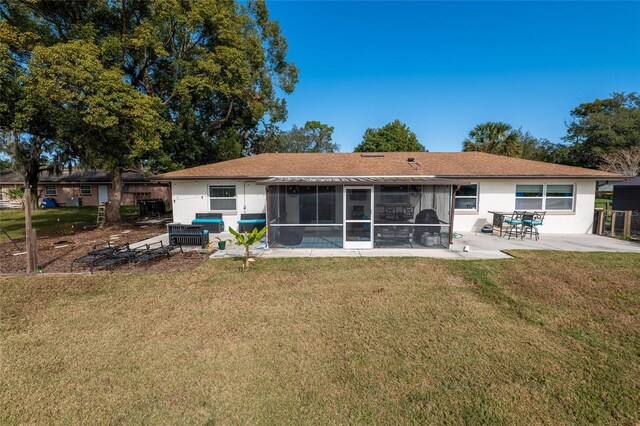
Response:
[{"label": "clear blue sky above the house and treetops", "polygon": [[639,2],[271,1],[300,82],[289,120],[351,151],[398,118],[430,151],[484,121],[560,142],[572,108],[640,91]]}]

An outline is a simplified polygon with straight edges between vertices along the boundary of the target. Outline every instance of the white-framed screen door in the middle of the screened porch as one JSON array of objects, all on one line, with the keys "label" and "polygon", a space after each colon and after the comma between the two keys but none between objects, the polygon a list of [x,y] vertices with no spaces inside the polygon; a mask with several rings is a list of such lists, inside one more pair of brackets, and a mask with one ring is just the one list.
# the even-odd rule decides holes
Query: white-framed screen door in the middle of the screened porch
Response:
[{"label": "white-framed screen door in the middle of the screened porch", "polygon": [[373,187],[346,186],[343,197],[344,248],[373,248]]}]

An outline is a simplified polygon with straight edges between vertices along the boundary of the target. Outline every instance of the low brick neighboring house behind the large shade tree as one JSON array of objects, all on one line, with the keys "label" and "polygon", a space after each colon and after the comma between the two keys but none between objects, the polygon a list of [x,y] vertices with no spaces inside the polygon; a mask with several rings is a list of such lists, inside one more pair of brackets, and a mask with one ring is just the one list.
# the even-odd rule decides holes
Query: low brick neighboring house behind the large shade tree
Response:
[{"label": "low brick neighboring house behind the large shade tree", "polygon": [[[123,205],[133,205],[138,200],[149,198],[162,198],[171,203],[171,186],[168,183],[151,181],[137,171],[127,171],[122,177]],[[6,200],[4,192],[7,189],[23,184],[15,172],[0,171],[0,200]],[[61,206],[75,205],[78,199],[83,206],[97,206],[106,203],[112,191],[111,173],[101,170],[65,171],[60,175],[42,172],[38,183],[38,204],[43,198],[53,198]]]}]

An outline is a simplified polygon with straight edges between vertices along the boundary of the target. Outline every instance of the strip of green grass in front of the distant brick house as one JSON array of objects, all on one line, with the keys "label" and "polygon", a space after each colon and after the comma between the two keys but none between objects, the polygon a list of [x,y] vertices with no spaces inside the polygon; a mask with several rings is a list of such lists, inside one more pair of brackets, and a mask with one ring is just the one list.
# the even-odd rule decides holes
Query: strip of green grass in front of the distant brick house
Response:
[{"label": "strip of green grass in front of the distant brick house", "polygon": [[[138,214],[138,206],[123,206],[121,213],[124,217]],[[33,211],[33,227],[38,235],[64,235],[75,227],[96,224],[98,207],[68,207],[57,209],[37,209]],[[24,238],[24,211],[21,209],[0,209],[0,226],[9,233],[11,238]],[[0,242],[7,237],[0,234]]]}]

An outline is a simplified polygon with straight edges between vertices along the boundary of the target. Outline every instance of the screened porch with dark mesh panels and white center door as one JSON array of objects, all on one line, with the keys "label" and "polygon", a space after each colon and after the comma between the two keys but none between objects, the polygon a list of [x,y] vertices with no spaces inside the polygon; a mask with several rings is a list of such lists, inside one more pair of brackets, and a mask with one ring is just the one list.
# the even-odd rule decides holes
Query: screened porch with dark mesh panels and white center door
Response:
[{"label": "screened porch with dark mesh panels and white center door", "polygon": [[271,178],[269,245],[448,248],[457,182],[430,178]]}]

